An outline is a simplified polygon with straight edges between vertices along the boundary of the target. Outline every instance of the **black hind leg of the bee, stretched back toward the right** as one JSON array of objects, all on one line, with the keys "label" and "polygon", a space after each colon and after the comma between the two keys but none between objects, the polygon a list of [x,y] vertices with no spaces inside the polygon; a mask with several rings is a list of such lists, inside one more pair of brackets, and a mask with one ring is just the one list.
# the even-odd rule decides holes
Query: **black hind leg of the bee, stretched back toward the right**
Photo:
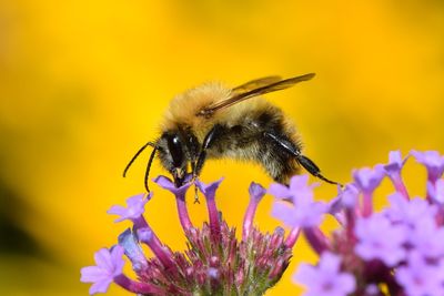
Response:
[{"label": "black hind leg of the bee, stretched back toward the right", "polygon": [[321,174],[321,170],[319,169],[319,166],[312,160],[302,155],[301,151],[299,149],[296,149],[291,141],[282,137],[280,135],[276,135],[274,133],[271,133],[271,132],[264,132],[264,135],[265,135],[265,137],[272,140],[275,144],[278,144],[278,146],[282,147],[287,153],[292,154],[296,159],[297,163],[301,166],[303,166],[313,176],[319,177],[322,181],[325,181],[330,184],[341,185],[337,182],[334,182],[334,181],[331,181],[331,180],[324,177]]}]

